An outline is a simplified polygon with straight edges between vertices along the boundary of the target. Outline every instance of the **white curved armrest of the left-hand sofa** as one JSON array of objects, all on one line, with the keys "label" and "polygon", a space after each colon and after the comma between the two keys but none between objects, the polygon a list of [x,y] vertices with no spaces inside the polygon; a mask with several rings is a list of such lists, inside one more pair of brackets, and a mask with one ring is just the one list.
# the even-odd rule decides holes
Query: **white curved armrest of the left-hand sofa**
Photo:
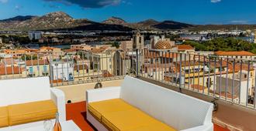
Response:
[{"label": "white curved armrest of the left-hand sofa", "polygon": [[50,89],[50,98],[57,106],[60,121],[66,121],[66,104],[65,95],[61,89]]}]

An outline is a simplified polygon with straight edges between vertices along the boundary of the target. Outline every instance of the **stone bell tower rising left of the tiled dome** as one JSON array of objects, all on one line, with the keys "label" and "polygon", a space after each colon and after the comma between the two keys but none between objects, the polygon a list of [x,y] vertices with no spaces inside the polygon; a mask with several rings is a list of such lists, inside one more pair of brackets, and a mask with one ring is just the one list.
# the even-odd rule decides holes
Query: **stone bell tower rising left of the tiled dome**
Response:
[{"label": "stone bell tower rising left of the tiled dome", "polygon": [[140,35],[140,32],[133,35],[133,49],[144,49],[144,35]]}]

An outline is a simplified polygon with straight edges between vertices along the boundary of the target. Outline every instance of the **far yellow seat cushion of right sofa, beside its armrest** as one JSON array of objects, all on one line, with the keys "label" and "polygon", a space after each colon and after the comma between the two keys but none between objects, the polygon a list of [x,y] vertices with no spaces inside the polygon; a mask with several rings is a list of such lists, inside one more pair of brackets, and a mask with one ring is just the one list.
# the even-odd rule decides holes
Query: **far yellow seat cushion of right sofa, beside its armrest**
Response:
[{"label": "far yellow seat cushion of right sofa, beside its armrest", "polygon": [[91,113],[95,119],[98,119],[99,122],[101,122],[102,114],[104,113],[112,113],[133,108],[133,106],[130,106],[127,102],[123,101],[123,99],[109,99],[88,103],[88,112]]}]

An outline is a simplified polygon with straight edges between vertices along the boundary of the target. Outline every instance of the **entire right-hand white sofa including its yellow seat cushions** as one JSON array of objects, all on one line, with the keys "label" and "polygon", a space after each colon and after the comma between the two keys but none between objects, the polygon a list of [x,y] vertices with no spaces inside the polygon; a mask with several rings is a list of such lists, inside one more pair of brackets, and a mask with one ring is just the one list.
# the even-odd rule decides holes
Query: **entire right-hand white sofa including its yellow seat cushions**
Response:
[{"label": "entire right-hand white sofa including its yellow seat cushions", "polygon": [[126,76],[87,92],[87,119],[102,130],[213,131],[213,104]]}]

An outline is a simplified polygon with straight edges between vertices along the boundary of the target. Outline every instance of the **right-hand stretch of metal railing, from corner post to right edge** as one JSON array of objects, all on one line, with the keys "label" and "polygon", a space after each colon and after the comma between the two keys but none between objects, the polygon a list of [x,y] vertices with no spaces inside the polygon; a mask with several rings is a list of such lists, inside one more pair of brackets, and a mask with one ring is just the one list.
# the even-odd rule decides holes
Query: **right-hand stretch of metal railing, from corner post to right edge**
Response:
[{"label": "right-hand stretch of metal railing, from corner post to right edge", "polygon": [[143,50],[139,76],[256,109],[256,63],[189,52]]}]

